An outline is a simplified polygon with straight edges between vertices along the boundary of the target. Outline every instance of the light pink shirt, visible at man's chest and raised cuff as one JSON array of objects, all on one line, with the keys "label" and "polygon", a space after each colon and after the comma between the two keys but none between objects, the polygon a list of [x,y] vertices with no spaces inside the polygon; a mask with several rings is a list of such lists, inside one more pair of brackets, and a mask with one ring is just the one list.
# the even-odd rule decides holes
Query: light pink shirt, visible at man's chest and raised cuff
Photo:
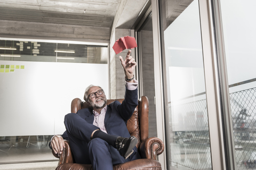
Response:
[{"label": "light pink shirt, visible at man's chest and raised cuff", "polygon": [[[135,90],[138,87],[138,81],[134,79],[134,83],[125,82],[125,86],[128,90]],[[105,123],[104,123],[106,112],[107,112],[107,106],[102,108],[100,113],[93,110],[93,114],[94,114],[93,125],[99,127],[100,130],[105,133],[107,133],[107,130],[105,128]]]}]

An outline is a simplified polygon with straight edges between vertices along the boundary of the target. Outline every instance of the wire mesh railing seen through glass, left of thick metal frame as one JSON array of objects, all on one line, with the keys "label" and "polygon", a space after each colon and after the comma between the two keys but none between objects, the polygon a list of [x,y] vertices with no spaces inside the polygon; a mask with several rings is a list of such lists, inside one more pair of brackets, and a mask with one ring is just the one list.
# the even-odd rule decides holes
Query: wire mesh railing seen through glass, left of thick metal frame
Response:
[{"label": "wire mesh railing seen through glass, left of thick metal frame", "polygon": [[177,118],[172,118],[172,162],[191,169],[211,169],[206,100],[172,107],[169,114],[178,113]]}]

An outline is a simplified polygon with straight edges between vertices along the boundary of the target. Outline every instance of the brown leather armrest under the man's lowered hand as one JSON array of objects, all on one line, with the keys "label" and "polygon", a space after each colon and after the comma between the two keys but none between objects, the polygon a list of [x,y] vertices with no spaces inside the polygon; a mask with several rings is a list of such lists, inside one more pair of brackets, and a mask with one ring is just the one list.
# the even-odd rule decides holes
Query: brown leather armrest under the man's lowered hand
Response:
[{"label": "brown leather armrest under the man's lowered hand", "polygon": [[59,158],[58,166],[64,163],[74,163],[73,155],[69,147],[69,141],[65,140],[64,142],[65,142],[65,149],[63,149],[61,155],[55,154],[54,151],[52,150],[53,156],[55,156],[56,158]]}]

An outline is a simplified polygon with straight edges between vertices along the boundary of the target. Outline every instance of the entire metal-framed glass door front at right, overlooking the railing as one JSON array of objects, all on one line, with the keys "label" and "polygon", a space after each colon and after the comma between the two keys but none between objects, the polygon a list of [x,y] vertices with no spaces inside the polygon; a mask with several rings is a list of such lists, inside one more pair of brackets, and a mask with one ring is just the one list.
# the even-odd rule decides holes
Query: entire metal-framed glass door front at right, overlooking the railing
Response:
[{"label": "entire metal-framed glass door front at right, overlooking the railing", "polygon": [[254,169],[256,3],[158,2],[167,169]]}]

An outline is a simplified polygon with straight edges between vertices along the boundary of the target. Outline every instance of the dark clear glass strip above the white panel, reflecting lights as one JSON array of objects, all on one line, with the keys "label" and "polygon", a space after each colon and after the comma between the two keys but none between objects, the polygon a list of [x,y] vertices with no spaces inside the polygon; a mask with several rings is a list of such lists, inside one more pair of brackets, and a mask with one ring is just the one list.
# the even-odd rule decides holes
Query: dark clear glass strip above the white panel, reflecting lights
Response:
[{"label": "dark clear glass strip above the white panel, reflecting lights", "polygon": [[0,60],[107,64],[107,46],[0,40]]}]

